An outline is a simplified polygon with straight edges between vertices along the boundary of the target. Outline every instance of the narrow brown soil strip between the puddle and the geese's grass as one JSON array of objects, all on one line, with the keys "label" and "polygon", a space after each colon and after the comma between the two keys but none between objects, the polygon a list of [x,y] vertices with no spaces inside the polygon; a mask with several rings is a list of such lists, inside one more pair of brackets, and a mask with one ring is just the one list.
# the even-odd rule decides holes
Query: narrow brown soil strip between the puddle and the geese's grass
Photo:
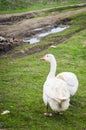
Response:
[{"label": "narrow brown soil strip between the puddle and the geese's grass", "polygon": [[[15,53],[12,55],[13,58],[21,58],[21,57],[24,57],[24,56],[27,56],[27,55],[32,55],[32,54],[35,54],[35,53],[39,53],[45,49],[47,49],[48,47],[50,47],[51,45],[58,45],[66,40],[68,40],[70,37],[72,37],[74,34],[76,34],[77,32],[80,32],[82,31],[84,28],[81,28],[80,30],[77,30],[75,32],[72,32],[72,33],[69,33],[68,35],[66,36],[62,36],[62,37],[59,37],[57,38],[55,41],[53,41],[52,43],[49,43],[47,45],[42,45],[42,46],[31,46],[29,48],[27,48],[27,50],[25,50],[24,52],[18,52],[18,53]],[[16,51],[16,50],[15,50]],[[10,54],[12,54],[12,52],[10,51],[9,52]]]}]

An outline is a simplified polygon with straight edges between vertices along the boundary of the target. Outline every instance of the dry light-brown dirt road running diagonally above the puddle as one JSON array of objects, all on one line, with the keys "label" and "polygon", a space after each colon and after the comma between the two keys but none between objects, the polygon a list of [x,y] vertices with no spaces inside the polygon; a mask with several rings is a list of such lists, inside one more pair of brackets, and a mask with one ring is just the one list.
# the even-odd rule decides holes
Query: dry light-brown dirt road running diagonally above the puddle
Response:
[{"label": "dry light-brown dirt road running diagonally above the puddle", "polygon": [[[38,27],[44,27],[48,25],[52,25],[55,23],[60,23],[61,20],[67,19],[74,14],[78,14],[80,12],[85,12],[86,7],[82,9],[68,11],[65,13],[57,13],[55,15],[48,15],[46,17],[32,18],[32,19],[23,19],[16,20],[16,22],[11,22],[11,24],[0,23],[0,35],[6,37],[25,37],[32,29]],[[1,18],[1,15],[0,15]]]}]

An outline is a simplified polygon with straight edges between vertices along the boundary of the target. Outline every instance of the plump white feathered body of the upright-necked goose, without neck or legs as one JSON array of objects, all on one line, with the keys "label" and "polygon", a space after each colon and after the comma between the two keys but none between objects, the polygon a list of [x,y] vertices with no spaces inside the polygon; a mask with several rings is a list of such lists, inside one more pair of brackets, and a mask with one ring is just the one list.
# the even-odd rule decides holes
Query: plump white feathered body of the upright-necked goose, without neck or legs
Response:
[{"label": "plump white feathered body of the upright-necked goose, without neck or legs", "polygon": [[43,101],[53,111],[62,112],[68,109],[70,94],[67,84],[57,78],[47,79],[43,86]]}]

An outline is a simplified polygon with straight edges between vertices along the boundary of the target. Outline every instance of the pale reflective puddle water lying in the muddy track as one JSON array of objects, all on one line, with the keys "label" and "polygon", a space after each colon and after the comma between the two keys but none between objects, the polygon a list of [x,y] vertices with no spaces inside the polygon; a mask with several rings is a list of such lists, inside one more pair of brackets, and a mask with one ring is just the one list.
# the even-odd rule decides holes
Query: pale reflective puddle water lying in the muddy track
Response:
[{"label": "pale reflective puddle water lying in the muddy track", "polygon": [[[61,32],[61,31],[65,30],[68,27],[69,26],[53,28],[50,31],[47,31],[47,32],[44,32],[44,33],[40,33],[37,37],[31,38],[29,40],[28,39],[27,40],[23,40],[23,42],[34,44],[34,43],[40,42],[41,38],[43,38],[43,37],[45,37],[45,36],[47,36],[49,34]],[[35,30],[42,30],[42,28],[37,28]]]}]

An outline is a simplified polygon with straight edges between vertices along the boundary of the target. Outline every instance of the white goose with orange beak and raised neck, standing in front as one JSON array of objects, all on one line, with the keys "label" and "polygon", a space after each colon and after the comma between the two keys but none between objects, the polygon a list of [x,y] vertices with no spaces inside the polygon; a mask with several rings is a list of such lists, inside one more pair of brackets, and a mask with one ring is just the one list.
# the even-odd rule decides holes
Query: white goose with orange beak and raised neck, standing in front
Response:
[{"label": "white goose with orange beak and raised neck, standing in front", "polygon": [[46,54],[41,60],[46,60],[50,63],[50,72],[43,86],[43,100],[46,105],[46,116],[52,116],[48,113],[48,105],[56,112],[62,112],[68,109],[70,105],[70,93],[67,83],[55,77],[56,60],[52,54]]}]

